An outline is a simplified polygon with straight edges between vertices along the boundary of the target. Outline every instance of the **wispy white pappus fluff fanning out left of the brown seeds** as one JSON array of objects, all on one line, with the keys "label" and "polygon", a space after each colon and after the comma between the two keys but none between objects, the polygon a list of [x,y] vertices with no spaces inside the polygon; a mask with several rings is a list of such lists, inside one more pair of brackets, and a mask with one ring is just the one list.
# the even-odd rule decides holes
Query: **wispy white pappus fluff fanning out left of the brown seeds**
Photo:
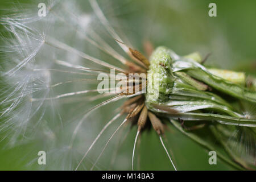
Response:
[{"label": "wispy white pappus fluff fanning out left of the brown seeds", "polygon": [[[28,154],[34,156],[30,164],[35,165],[37,151],[44,150],[51,163],[47,169],[75,169],[97,128],[115,114],[97,113],[119,100],[104,102],[113,94],[98,95],[98,72],[93,70],[123,71],[126,58],[110,45],[116,44],[113,38],[102,34],[109,36],[108,43],[97,33],[104,27],[98,28],[102,25],[88,2],[47,1],[45,16],[38,15],[39,3],[17,3],[1,17],[1,140],[11,146],[37,143]],[[108,61],[97,57],[100,54],[109,55]],[[113,105],[113,110],[118,107]],[[85,160],[88,168],[97,154],[100,151],[93,151],[92,159]]]}]

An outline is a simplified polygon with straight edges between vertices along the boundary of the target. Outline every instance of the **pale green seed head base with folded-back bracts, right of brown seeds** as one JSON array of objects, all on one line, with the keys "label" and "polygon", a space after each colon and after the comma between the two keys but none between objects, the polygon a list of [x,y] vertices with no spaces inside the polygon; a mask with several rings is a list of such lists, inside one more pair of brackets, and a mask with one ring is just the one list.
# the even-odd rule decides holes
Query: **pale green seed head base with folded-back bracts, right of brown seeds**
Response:
[{"label": "pale green seed head base with folded-back bracts, right of brown seeds", "polygon": [[[156,48],[150,63],[146,94],[148,109],[190,121],[256,126],[255,118],[243,115],[224,99],[231,97],[233,101],[255,104],[256,92],[245,88],[244,73],[226,71],[229,75],[225,75],[225,71],[208,70],[200,64],[199,53],[178,56],[166,47]],[[232,78],[229,78],[230,74]],[[177,113],[170,113],[168,109]]]}]

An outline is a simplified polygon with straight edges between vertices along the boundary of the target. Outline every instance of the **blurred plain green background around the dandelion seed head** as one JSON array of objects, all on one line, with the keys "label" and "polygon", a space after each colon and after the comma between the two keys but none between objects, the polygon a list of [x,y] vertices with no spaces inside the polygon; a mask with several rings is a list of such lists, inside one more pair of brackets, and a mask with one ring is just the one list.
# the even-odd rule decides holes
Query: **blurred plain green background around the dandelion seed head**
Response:
[{"label": "blurred plain green background around the dandelion seed head", "polygon": [[[21,4],[27,2],[19,1]],[[217,5],[217,17],[208,16],[211,2]],[[121,22],[119,31],[125,32],[131,44],[142,52],[143,41],[150,40],[154,47],[167,46],[179,55],[194,51],[199,51],[203,56],[212,53],[207,60],[208,65],[246,71],[253,75],[256,73],[256,1],[125,0],[109,1],[108,7],[103,6],[107,4],[106,1],[100,3],[103,11],[108,9],[106,16],[118,19]],[[1,0],[1,15],[8,13],[11,6],[10,0]],[[131,153],[135,132],[135,128],[131,130],[119,151],[121,154],[127,150]],[[4,134],[0,134],[0,140],[3,137]],[[167,132],[167,139],[178,169],[234,169],[220,159],[217,165],[210,166],[208,151],[172,126]],[[172,169],[154,131],[143,133],[141,141],[140,169]],[[35,166],[26,165],[36,158],[36,155],[28,156],[35,143],[14,148],[6,147],[6,144],[5,140],[0,142],[1,170],[36,169]]]}]

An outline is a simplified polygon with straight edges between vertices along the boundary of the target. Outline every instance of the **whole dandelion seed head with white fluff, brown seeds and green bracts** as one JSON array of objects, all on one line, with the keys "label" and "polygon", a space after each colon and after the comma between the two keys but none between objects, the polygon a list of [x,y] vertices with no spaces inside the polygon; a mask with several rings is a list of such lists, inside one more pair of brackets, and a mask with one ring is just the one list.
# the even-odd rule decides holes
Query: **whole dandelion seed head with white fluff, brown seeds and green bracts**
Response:
[{"label": "whole dandelion seed head with white fluff, brown seeds and green bracts", "polygon": [[27,168],[139,170],[152,145],[161,155],[148,163],[162,158],[164,169],[180,170],[186,156],[175,157],[169,142],[179,131],[226,166],[255,169],[253,75],[207,65],[209,55],[195,50],[179,55],[143,39],[134,46],[107,18],[118,11],[110,3],[39,3],[1,15],[1,140],[32,146]]}]

